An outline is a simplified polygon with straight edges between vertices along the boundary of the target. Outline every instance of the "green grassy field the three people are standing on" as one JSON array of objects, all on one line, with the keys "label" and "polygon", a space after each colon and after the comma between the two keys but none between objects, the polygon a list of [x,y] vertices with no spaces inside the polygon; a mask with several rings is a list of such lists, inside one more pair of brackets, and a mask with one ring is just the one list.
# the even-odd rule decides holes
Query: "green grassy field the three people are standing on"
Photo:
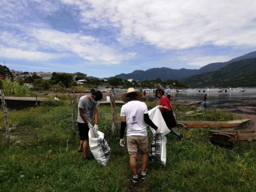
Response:
[{"label": "green grassy field the three people are standing on", "polygon": [[[153,108],[156,103],[147,103]],[[178,120],[233,120],[238,117],[220,110],[197,114],[195,107],[176,107]],[[209,143],[209,129],[175,130],[185,133],[178,142],[167,134],[166,166],[148,162],[148,177],[130,181],[129,156],[119,146],[119,134],[111,135],[111,108],[100,106],[99,130],[111,147],[112,161],[106,166],[95,160],[82,161],[79,139],[72,139],[69,101],[48,101],[38,108],[8,111],[11,145],[5,146],[0,132],[1,191],[255,191],[255,145],[232,150]],[[120,107],[118,107],[118,116]],[[185,116],[184,112],[195,111]],[[0,111],[3,114],[3,111]],[[119,118],[119,117],[118,117]],[[0,115],[0,126],[4,117]],[[149,140],[152,134],[148,130]],[[91,154],[90,154],[91,155]],[[92,156],[92,155],[91,155]],[[140,159],[138,158],[138,163]]]}]

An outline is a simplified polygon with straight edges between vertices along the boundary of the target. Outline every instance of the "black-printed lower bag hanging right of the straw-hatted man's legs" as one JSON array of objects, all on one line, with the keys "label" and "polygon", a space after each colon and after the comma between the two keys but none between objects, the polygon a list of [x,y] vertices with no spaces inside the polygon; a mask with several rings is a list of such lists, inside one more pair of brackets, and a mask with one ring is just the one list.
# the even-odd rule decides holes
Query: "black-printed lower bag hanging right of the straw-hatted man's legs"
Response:
[{"label": "black-printed lower bag hanging right of the straw-hatted man's legs", "polygon": [[153,137],[148,153],[148,160],[164,164],[166,163],[166,137],[164,134],[157,134]]}]

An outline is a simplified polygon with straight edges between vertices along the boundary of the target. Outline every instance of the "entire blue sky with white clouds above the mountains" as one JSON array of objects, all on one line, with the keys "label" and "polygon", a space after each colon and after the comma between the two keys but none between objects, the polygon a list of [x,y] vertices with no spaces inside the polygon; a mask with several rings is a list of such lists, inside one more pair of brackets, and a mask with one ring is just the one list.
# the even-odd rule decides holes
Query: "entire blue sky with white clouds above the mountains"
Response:
[{"label": "entire blue sky with white clouds above the mountains", "polygon": [[255,0],[0,0],[0,65],[98,78],[256,51]]}]

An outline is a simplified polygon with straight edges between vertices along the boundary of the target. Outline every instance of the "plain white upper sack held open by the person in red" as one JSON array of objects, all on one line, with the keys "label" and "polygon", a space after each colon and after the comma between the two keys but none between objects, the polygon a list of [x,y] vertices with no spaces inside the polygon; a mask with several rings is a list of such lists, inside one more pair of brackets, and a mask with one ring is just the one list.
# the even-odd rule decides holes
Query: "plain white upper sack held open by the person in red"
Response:
[{"label": "plain white upper sack held open by the person in red", "polygon": [[[163,116],[162,116],[158,106],[156,106],[155,108],[148,111],[148,116],[150,116],[150,119],[153,121],[153,123],[161,129],[161,131],[164,135],[166,135],[167,133],[170,132],[170,130],[168,129],[168,127],[163,119]],[[153,133],[153,136],[156,135],[156,131],[152,127],[150,127],[150,129]]]}]

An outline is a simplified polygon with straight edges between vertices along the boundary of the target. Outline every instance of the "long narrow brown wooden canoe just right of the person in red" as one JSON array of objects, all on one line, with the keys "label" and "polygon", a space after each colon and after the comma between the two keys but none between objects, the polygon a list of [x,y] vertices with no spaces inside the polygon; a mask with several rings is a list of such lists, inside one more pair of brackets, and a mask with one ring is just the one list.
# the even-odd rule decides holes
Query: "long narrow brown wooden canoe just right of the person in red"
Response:
[{"label": "long narrow brown wooden canoe just right of the person in red", "polygon": [[251,119],[240,119],[240,120],[232,120],[232,121],[177,121],[177,124],[183,126],[184,128],[236,127],[250,120]]}]

